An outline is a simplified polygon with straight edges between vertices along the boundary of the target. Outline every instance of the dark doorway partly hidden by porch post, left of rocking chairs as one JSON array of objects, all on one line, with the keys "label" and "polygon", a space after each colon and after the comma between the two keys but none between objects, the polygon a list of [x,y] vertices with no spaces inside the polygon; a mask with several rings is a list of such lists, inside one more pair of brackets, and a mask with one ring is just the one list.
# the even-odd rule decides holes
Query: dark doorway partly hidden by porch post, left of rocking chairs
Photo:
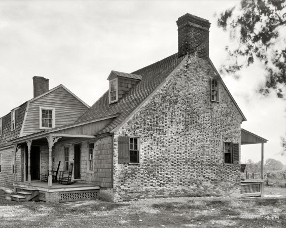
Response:
[{"label": "dark doorway partly hidden by porch post, left of rocking chairs", "polygon": [[[31,146],[31,180],[40,180],[40,146]],[[28,146],[25,154],[26,180],[28,180]]]}]

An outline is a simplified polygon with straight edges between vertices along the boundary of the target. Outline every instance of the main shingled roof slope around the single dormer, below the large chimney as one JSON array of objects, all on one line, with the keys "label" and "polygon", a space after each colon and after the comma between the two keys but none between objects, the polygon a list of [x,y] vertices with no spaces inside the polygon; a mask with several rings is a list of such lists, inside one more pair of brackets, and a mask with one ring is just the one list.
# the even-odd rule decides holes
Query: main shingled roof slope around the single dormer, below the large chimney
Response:
[{"label": "main shingled roof slope around the single dormer, below the large chimney", "polygon": [[168,77],[185,57],[186,56],[178,58],[176,53],[161,61],[132,72],[131,74],[141,75],[142,80],[127,94],[118,102],[110,104],[109,91],[106,91],[76,123],[120,113],[118,117],[114,118],[114,120],[106,125],[98,134],[112,131]]}]

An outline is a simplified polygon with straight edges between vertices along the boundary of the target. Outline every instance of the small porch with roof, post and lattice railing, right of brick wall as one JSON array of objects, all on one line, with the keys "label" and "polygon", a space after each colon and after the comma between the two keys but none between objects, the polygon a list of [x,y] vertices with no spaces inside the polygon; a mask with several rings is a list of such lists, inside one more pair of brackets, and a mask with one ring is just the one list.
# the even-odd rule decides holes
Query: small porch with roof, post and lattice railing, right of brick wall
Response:
[{"label": "small porch with roof, post and lattice railing, right of brick wall", "polygon": [[[264,163],[264,143],[268,140],[262,138],[252,132],[241,129],[241,145],[261,144],[261,179],[244,179],[240,180],[240,196],[241,197],[263,197],[263,163]],[[243,170],[244,172],[244,170]]]}]

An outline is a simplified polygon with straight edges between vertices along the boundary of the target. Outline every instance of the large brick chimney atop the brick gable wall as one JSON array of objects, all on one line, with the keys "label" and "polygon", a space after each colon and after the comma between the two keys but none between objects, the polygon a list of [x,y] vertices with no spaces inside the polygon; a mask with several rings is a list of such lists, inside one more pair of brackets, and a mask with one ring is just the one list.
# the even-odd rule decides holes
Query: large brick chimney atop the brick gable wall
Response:
[{"label": "large brick chimney atop the brick gable wall", "polygon": [[178,57],[196,54],[208,59],[208,20],[192,14],[185,14],[176,21],[178,26]]}]

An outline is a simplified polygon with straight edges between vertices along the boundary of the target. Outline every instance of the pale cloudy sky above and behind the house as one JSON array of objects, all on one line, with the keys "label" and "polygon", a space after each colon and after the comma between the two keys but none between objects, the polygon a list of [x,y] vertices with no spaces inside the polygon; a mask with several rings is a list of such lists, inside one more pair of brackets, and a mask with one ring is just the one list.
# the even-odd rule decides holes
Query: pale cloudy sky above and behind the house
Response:
[{"label": "pale cloudy sky above and behind the house", "polygon": [[[226,59],[229,34],[215,13],[239,1],[0,1],[0,117],[33,97],[33,76],[64,85],[92,105],[109,89],[111,70],[130,73],[177,52],[178,17],[190,13],[211,22],[210,59]],[[269,141],[264,161],[286,165],[280,136],[286,133],[286,102],[257,93],[264,72],[257,63],[240,78],[223,80],[244,113],[241,127]],[[261,144],[243,145],[241,162],[261,160]]]}]

